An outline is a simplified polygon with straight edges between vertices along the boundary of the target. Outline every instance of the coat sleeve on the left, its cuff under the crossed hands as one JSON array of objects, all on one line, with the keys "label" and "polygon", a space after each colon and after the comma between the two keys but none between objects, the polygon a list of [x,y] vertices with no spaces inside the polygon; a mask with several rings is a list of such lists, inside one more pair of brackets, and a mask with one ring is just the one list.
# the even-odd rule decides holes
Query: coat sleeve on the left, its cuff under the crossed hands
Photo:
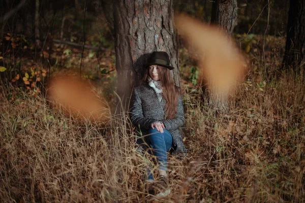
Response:
[{"label": "coat sleeve on the left, its cuff under the crossed hands", "polygon": [[132,93],[129,116],[132,124],[142,129],[149,129],[151,123],[158,121],[156,119],[143,116],[142,101],[138,88],[134,88]]}]

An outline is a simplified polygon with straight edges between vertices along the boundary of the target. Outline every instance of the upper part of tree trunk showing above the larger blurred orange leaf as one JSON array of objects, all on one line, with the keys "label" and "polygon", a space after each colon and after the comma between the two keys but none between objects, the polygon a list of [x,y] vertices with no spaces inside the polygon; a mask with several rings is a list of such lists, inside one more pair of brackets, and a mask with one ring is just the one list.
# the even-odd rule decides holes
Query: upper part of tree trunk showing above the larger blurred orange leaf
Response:
[{"label": "upper part of tree trunk showing above the larger blurred orange leaf", "polygon": [[211,23],[231,35],[237,25],[237,0],[216,0],[212,4]]}]

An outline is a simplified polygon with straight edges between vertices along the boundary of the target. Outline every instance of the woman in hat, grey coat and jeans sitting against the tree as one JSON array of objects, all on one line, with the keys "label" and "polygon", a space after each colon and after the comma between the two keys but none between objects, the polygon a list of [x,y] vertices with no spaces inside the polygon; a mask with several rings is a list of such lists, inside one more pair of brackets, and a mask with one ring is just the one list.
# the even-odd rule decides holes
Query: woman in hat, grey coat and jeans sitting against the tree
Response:
[{"label": "woman in hat, grey coat and jeans sitting against the tree", "polygon": [[[170,192],[167,178],[167,152],[186,153],[179,127],[184,123],[184,109],[180,90],[170,76],[169,56],[166,52],[153,52],[144,66],[144,78],[140,86],[134,88],[130,109],[132,123],[142,136],[138,144],[147,144],[156,156],[159,165],[157,185],[162,190],[158,195]],[[155,194],[156,183],[150,171],[147,177],[148,192]]]}]

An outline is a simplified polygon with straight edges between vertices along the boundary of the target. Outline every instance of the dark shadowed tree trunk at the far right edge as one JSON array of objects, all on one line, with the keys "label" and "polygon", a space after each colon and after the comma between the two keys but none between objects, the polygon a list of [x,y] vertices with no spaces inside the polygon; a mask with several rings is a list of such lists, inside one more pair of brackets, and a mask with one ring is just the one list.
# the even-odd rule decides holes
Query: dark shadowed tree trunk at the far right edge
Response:
[{"label": "dark shadowed tree trunk at the far right edge", "polygon": [[292,66],[294,71],[304,60],[305,49],[305,0],[290,0],[286,50],[283,68]]}]

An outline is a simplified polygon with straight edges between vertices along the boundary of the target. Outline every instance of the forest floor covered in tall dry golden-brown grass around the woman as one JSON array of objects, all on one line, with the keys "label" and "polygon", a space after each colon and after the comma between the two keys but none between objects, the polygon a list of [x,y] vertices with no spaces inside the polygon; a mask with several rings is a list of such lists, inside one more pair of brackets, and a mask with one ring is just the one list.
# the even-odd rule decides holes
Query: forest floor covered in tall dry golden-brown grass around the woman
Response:
[{"label": "forest floor covered in tall dry golden-brown grass around the woman", "polygon": [[[189,153],[169,155],[171,193],[160,202],[305,201],[304,75],[280,71],[284,38],[267,38],[266,69],[261,38],[236,39],[249,72],[229,108],[217,114],[202,96],[191,54],[179,50]],[[81,60],[81,51],[55,44],[50,69],[42,59],[48,54],[40,60],[10,56],[10,68],[1,73],[0,199],[145,202],[151,157],[135,151],[128,118],[113,116],[103,125],[80,121],[51,108],[40,94],[49,75],[77,75],[82,61],[82,78],[111,106],[113,52],[86,51]]]}]

